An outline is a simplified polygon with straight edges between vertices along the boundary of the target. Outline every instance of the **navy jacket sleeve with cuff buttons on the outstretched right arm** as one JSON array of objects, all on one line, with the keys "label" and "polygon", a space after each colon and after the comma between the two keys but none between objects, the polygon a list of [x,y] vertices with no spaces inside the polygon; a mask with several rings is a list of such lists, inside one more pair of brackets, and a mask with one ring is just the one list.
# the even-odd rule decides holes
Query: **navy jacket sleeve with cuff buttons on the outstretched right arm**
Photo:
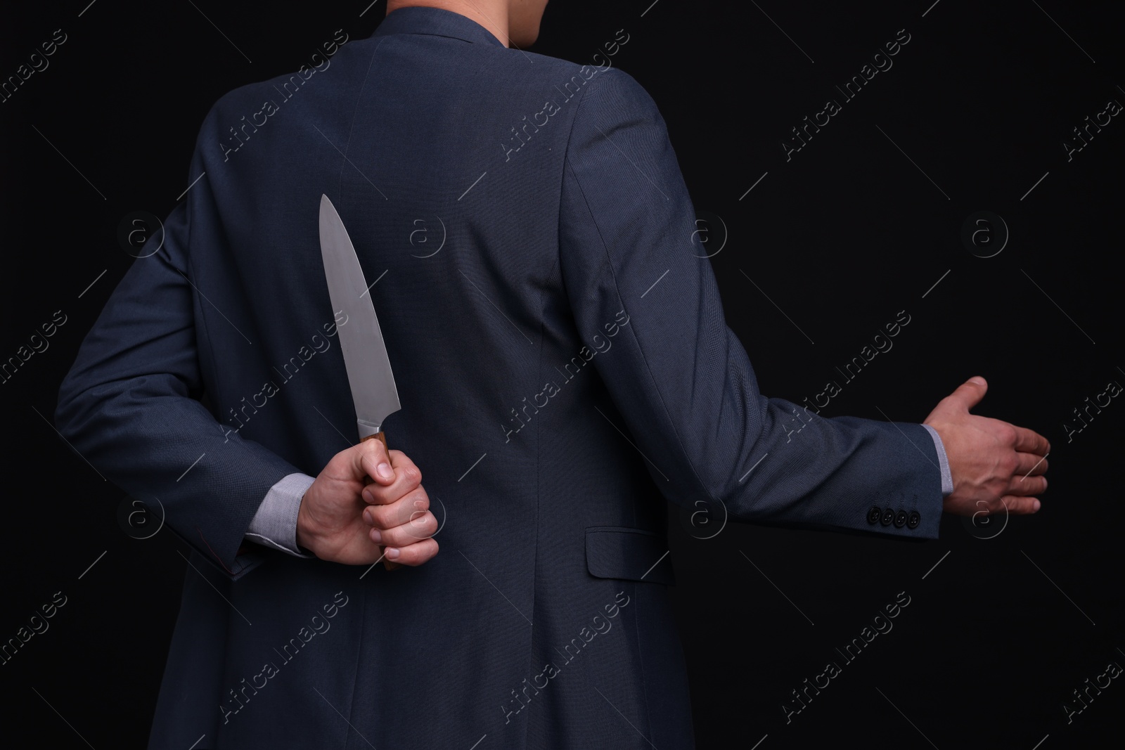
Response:
[{"label": "navy jacket sleeve with cuff buttons on the outstretched right arm", "polygon": [[562,177],[562,283],[656,485],[681,504],[721,504],[735,521],[936,537],[942,477],[925,427],[826,418],[763,396],[699,257],[652,99],[615,69],[582,97]]}]

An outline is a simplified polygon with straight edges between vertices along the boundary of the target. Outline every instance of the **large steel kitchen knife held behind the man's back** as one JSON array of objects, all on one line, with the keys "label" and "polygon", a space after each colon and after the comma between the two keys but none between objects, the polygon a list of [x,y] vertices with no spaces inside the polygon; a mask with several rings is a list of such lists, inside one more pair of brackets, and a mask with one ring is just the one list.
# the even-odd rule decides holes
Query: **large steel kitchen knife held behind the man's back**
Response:
[{"label": "large steel kitchen knife held behind the man's back", "polygon": [[[346,315],[346,325],[338,327],[336,335],[344,355],[360,442],[378,440],[386,448],[382,422],[402,408],[398,389],[356,247],[335,206],[324,195],[321,196],[321,256],[332,309]],[[387,570],[399,567],[386,558],[382,564]]]}]

